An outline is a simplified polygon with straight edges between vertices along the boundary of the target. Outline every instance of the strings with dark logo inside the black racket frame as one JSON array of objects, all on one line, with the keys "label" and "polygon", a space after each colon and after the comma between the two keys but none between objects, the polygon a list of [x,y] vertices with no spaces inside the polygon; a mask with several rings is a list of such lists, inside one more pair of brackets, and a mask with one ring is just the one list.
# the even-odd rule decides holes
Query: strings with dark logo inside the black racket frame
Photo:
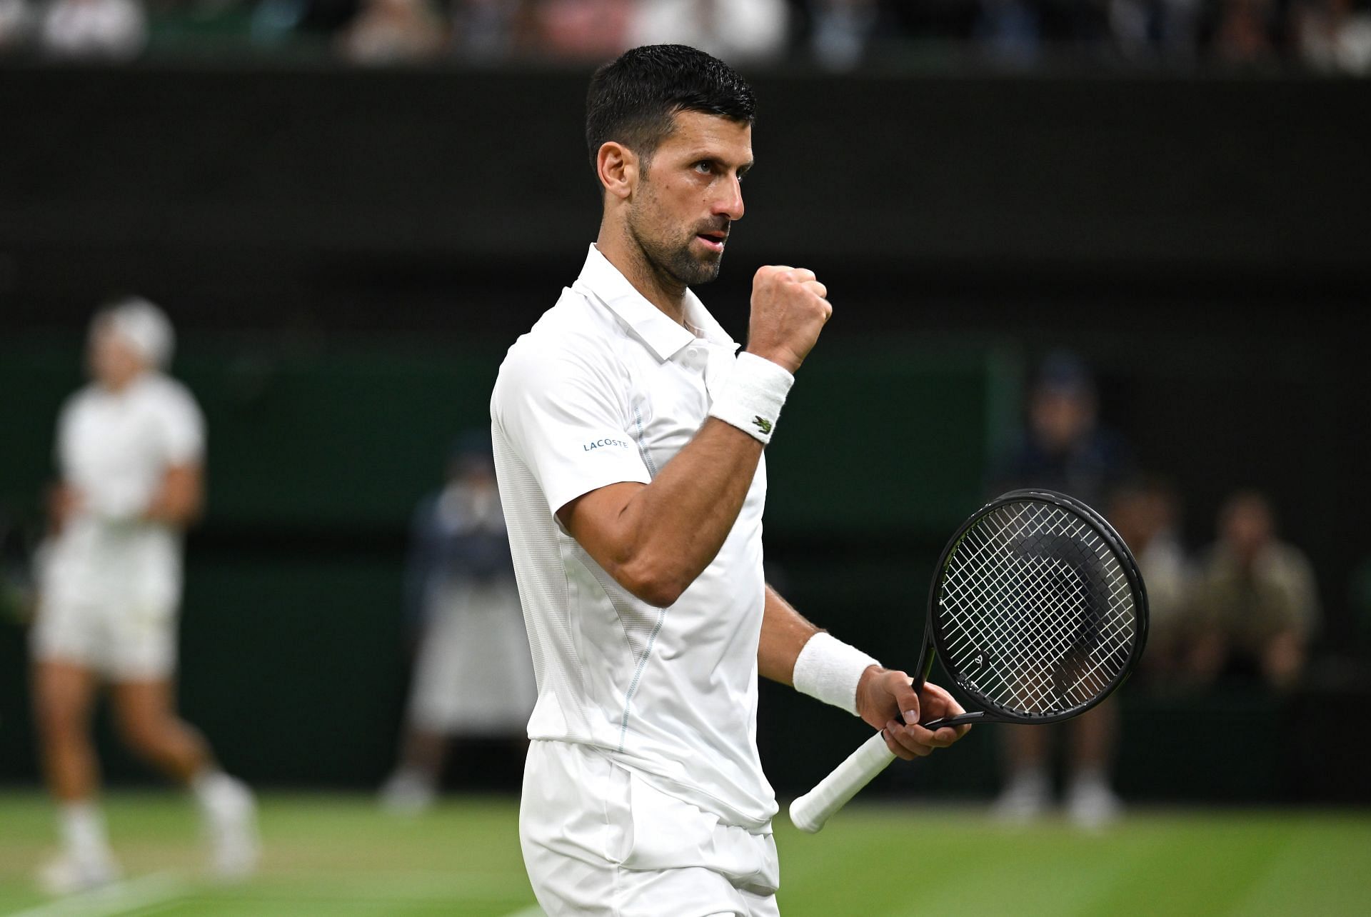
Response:
[{"label": "strings with dark logo inside the black racket frame", "polygon": [[939,654],[962,687],[1017,714],[1089,703],[1127,666],[1138,629],[1109,544],[1049,503],[997,507],[943,570]]}]

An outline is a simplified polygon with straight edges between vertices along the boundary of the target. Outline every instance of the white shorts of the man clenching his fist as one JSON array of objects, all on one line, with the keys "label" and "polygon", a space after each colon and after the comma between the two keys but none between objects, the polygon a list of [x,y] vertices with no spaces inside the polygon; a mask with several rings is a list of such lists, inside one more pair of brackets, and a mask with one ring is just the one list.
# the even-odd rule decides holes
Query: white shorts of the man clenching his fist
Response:
[{"label": "white shorts of the man clenching his fist", "polygon": [[520,842],[548,917],[780,913],[769,825],[720,824],[588,746],[529,744]]}]

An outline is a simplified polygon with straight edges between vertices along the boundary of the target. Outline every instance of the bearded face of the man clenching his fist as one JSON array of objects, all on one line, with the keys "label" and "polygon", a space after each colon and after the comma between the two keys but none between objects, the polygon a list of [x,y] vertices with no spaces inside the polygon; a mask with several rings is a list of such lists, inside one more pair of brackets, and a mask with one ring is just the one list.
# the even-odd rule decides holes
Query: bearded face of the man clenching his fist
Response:
[{"label": "bearded face of the man clenching his fist", "polygon": [[680,111],[675,129],[639,174],[628,232],[654,270],[686,286],[718,276],[724,244],[743,215],[742,178],[753,164],[753,129]]}]

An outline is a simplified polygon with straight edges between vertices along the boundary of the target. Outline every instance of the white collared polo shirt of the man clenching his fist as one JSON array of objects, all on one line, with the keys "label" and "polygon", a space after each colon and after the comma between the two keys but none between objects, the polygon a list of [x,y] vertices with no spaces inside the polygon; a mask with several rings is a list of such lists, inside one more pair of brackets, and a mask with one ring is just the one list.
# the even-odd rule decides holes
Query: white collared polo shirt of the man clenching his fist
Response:
[{"label": "white collared polo shirt of the man clenching his fist", "polygon": [[581,276],[510,348],[491,398],[495,466],[537,676],[529,739],[594,746],[721,821],[765,829],[757,754],[758,465],[723,548],[666,609],[636,599],[557,521],[648,482],[705,422],[738,344],[694,293],[677,325],[591,245]]}]

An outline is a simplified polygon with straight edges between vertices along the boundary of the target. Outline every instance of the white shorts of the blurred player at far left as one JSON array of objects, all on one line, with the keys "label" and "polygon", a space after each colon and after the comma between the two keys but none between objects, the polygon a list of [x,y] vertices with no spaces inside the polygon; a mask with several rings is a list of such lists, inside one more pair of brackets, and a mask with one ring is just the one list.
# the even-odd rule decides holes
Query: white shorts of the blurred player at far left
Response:
[{"label": "white shorts of the blurred player at far left", "polygon": [[30,633],[33,658],[74,662],[111,681],[156,681],[175,670],[175,604],[44,599]]}]

